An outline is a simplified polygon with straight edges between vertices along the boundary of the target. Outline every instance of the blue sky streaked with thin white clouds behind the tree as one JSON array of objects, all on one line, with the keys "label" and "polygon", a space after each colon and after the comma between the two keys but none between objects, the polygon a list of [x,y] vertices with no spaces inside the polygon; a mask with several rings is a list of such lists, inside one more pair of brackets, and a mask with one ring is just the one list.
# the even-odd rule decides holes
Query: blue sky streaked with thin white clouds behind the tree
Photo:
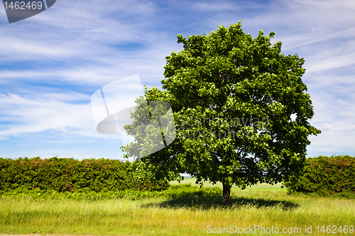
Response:
[{"label": "blue sky streaked with thin white clouds behind the tree", "polygon": [[241,20],[253,38],[275,32],[284,55],[305,59],[315,116],[307,157],[355,156],[355,1],[57,0],[9,23],[0,6],[0,157],[122,159],[119,135],[97,132],[91,96],[139,74],[161,88],[176,36]]}]

